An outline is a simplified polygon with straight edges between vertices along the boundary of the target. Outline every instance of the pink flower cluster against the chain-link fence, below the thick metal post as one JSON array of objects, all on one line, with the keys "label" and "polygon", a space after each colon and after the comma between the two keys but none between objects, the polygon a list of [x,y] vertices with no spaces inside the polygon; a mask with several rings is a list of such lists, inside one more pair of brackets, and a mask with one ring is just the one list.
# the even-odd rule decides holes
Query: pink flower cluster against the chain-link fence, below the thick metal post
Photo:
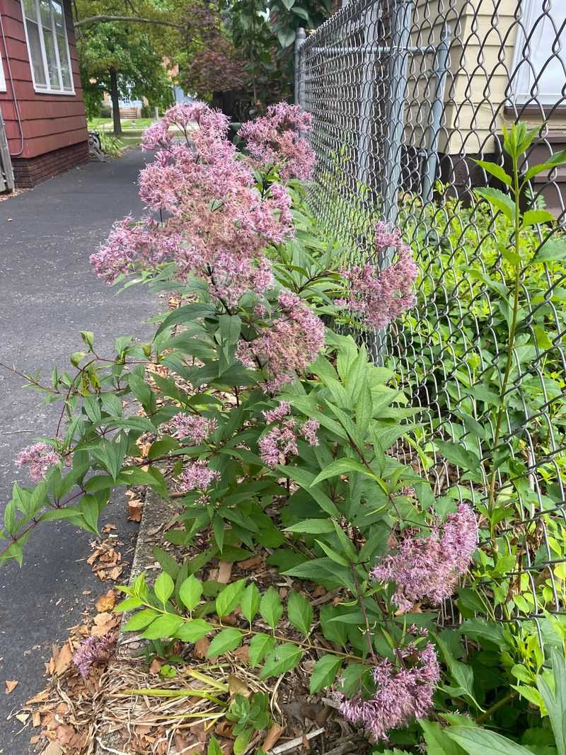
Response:
[{"label": "pink flower cluster against the chain-link fence, below the thick metal post", "polygon": [[418,268],[411,257],[411,249],[401,240],[398,228],[388,231],[384,223],[377,223],[376,248],[383,254],[388,248],[397,250],[397,259],[376,273],[372,264],[341,270],[349,281],[347,299],[337,299],[350,312],[355,313],[369,328],[385,328],[405,310],[414,307],[413,284]]}]

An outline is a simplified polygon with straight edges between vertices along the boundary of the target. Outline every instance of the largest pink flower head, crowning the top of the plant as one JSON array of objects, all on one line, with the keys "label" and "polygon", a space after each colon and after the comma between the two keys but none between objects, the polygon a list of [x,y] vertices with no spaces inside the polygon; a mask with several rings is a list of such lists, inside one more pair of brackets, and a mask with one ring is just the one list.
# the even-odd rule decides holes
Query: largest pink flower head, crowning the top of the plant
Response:
[{"label": "largest pink flower head, crowning the top of the plant", "polygon": [[[172,137],[173,125],[184,143]],[[263,250],[293,235],[291,198],[277,183],[257,192],[227,130],[226,116],[205,103],[177,104],[149,128],[144,146],[160,151],[140,174],[140,197],[161,220],[116,223],[91,257],[100,277],[112,283],[136,263],[152,269],[173,261],[180,280],[204,278],[229,306],[272,286]]]}]

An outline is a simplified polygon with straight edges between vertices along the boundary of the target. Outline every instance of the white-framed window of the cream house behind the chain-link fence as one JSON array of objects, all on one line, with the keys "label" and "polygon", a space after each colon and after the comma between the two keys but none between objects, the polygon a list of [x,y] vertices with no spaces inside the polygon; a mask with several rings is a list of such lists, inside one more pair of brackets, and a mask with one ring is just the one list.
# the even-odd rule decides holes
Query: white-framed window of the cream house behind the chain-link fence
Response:
[{"label": "white-framed window of the cream house behind the chain-link fence", "polygon": [[[531,34],[535,21],[543,13],[543,0],[523,0],[524,14],[521,17],[521,24],[518,26],[517,39],[515,40],[515,53],[513,55],[513,67],[512,71],[517,71],[517,67],[523,60],[524,45],[529,39],[529,46],[531,49],[536,49],[540,45],[543,45],[544,23],[539,23],[534,33]],[[557,5],[552,3],[553,8],[558,8]],[[525,33],[526,32],[526,33]],[[562,32],[564,34],[564,32]],[[561,60],[566,62],[566,44],[564,49],[560,53]],[[558,82],[558,86],[562,82]],[[531,88],[534,85],[534,75],[531,66],[523,64],[517,71],[512,81],[512,98],[516,105],[524,105],[534,100],[531,94]],[[536,100],[541,105],[555,105],[559,100],[563,100],[564,94],[561,89],[552,92],[539,91]]]}]

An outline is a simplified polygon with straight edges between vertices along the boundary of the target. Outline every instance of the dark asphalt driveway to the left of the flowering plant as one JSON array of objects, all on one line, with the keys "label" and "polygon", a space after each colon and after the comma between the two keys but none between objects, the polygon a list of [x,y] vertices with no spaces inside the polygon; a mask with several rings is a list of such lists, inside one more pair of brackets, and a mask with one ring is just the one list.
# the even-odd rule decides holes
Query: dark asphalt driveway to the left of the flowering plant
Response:
[{"label": "dark asphalt driveway to the left of the flowering plant", "polygon": [[[116,336],[146,338],[144,325],[155,313],[155,298],[134,286],[123,294],[99,281],[88,257],[114,220],[141,214],[137,174],[144,165],[139,149],[122,159],[91,162],[34,190],[0,202],[0,361],[22,371],[69,367],[69,354],[82,348],[78,331],[94,331],[99,353],[112,353]],[[14,374],[0,370],[0,511],[15,480],[29,484],[14,467],[17,451],[36,436],[54,432],[55,407],[23,390]],[[57,405],[56,405],[57,406]],[[131,542],[136,525],[125,522],[125,504],[109,507],[122,541]],[[66,637],[92,596],[109,584],[85,564],[91,553],[85,532],[69,525],[40,525],[25,549],[23,568],[0,567],[0,753],[25,755],[33,733],[7,717],[44,686],[44,662],[51,643]],[[128,546],[121,549],[128,550]],[[5,680],[19,685],[5,695]]]}]

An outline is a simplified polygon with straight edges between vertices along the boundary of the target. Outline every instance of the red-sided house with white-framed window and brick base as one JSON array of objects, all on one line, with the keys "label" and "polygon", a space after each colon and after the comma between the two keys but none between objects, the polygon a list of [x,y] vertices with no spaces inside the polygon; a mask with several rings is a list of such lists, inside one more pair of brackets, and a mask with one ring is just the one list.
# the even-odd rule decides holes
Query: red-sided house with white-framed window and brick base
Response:
[{"label": "red-sided house with white-framed window and brick base", "polygon": [[0,111],[17,186],[88,161],[71,0],[0,0]]}]

